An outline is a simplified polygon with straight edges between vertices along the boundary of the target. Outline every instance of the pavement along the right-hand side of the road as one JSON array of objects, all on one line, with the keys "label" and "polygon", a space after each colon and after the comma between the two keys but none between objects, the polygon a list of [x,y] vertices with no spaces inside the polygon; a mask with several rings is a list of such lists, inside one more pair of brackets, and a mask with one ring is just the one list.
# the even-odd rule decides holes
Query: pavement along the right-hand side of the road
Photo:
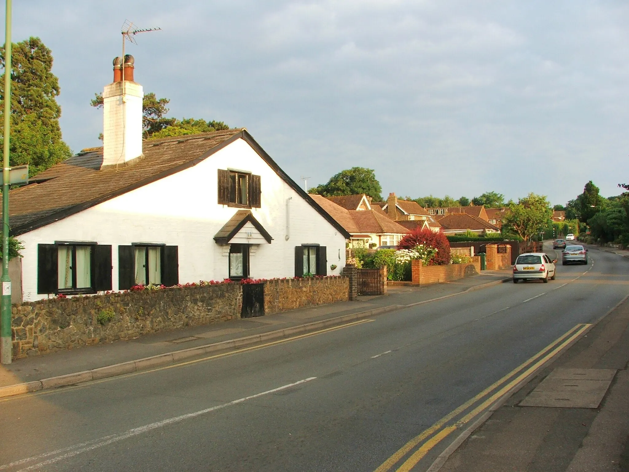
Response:
[{"label": "pavement along the right-hand side of the road", "polygon": [[[591,254],[629,257],[627,250],[588,247]],[[428,471],[629,471],[628,364],[625,298],[502,405],[490,408],[493,413],[463,432],[455,441],[460,446],[444,451]],[[587,405],[597,388],[602,400]]]}]

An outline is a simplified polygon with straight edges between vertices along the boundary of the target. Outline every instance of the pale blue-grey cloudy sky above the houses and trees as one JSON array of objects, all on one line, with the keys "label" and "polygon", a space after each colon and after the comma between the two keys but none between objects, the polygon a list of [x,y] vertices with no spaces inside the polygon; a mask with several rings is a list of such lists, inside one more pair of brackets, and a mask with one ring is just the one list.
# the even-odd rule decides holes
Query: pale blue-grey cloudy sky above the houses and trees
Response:
[{"label": "pale blue-grey cloudy sky above the houses and trees", "polygon": [[528,192],[565,203],[629,181],[626,0],[14,2],[13,41],[52,49],[64,139],[127,48],[170,116],[245,126],[296,181],[375,169],[385,195]]}]

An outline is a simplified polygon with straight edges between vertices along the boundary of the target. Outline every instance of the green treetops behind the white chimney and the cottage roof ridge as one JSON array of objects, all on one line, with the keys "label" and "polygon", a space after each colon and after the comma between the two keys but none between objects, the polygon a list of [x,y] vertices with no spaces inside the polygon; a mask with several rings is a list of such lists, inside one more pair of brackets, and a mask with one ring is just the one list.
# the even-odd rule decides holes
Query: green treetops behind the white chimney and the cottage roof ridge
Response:
[{"label": "green treetops behind the white chimney and the cottage roof ridge", "polygon": [[[166,138],[170,136],[184,136],[210,131],[228,130],[230,127],[223,121],[195,120],[194,118],[167,118],[165,115],[170,103],[167,98],[157,98],[154,93],[145,94],[142,99],[142,130],[145,139]],[[95,108],[103,108],[103,95],[94,94],[90,102]],[[103,139],[103,133],[99,136]]]}]

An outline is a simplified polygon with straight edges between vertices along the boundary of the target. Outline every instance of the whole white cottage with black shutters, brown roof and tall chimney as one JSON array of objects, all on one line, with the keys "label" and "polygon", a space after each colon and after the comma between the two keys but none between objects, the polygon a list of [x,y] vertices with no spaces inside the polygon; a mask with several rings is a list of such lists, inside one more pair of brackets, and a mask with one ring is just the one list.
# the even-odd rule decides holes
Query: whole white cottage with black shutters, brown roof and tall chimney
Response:
[{"label": "whole white cottage with black shutters, brown roof and tall chimney", "polygon": [[245,128],[143,141],[142,86],[116,64],[103,147],[11,191],[23,300],[340,273],[349,233]]}]

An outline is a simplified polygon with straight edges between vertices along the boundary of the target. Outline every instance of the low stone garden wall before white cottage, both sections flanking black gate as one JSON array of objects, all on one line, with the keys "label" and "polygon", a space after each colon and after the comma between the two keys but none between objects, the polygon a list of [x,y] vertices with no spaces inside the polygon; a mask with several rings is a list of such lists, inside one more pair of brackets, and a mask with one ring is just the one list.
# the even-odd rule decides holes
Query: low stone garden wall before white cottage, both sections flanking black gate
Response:
[{"label": "low stone garden wall before white cottage, both sections flanking black gate", "polygon": [[[265,281],[265,314],[347,301],[347,277]],[[12,307],[13,357],[240,318],[237,283],[51,298]],[[102,324],[99,315],[111,315]]]}]

